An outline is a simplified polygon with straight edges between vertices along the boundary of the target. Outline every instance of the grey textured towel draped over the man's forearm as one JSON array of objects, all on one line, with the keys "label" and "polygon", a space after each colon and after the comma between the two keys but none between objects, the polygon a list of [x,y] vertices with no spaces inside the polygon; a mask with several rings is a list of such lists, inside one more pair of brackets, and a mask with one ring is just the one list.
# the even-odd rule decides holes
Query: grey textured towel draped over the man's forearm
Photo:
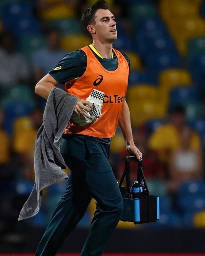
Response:
[{"label": "grey textured towel draped over the man's forearm", "polygon": [[43,123],[35,140],[35,184],[28,200],[23,205],[19,220],[33,217],[39,212],[42,189],[68,178],[60,153],[62,134],[70,120],[78,98],[54,87],[46,103]]}]

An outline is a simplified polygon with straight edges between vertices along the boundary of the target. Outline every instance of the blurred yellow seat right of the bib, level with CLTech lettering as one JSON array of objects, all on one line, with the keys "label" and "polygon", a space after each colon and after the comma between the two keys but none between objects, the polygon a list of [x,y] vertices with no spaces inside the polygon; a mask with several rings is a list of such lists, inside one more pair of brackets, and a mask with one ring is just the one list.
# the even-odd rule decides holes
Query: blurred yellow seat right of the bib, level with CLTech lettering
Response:
[{"label": "blurred yellow seat right of the bib, level with CLTech lettering", "polygon": [[158,88],[150,84],[137,84],[127,91],[127,101],[156,100]]}]

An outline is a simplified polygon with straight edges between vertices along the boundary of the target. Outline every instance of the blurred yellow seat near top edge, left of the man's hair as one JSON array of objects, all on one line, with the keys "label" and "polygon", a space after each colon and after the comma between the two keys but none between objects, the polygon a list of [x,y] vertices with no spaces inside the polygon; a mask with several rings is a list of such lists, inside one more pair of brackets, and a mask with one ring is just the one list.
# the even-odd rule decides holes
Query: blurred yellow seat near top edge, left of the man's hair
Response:
[{"label": "blurred yellow seat near top edge, left of the man's hair", "polygon": [[59,3],[44,10],[39,10],[39,17],[45,20],[74,18],[75,16],[74,6],[66,3]]}]

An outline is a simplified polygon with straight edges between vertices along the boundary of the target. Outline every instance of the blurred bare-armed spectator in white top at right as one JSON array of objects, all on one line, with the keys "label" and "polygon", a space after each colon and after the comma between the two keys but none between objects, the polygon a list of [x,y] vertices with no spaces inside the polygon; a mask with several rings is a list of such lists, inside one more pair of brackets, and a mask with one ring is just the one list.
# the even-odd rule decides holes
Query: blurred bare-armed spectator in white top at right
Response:
[{"label": "blurred bare-armed spectator in white top at right", "polygon": [[202,154],[191,146],[192,136],[193,131],[187,126],[183,127],[180,132],[181,146],[174,149],[169,156],[170,192],[177,192],[182,182],[202,179]]}]

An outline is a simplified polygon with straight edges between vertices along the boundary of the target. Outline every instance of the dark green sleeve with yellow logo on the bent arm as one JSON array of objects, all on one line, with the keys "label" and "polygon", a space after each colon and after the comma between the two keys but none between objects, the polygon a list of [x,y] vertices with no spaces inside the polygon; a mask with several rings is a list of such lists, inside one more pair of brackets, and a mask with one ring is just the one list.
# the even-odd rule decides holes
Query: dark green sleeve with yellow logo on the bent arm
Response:
[{"label": "dark green sleeve with yellow logo on the bent arm", "polygon": [[65,84],[70,80],[83,75],[87,66],[87,57],[84,51],[77,50],[69,52],[59,63],[48,73],[59,84]]}]

